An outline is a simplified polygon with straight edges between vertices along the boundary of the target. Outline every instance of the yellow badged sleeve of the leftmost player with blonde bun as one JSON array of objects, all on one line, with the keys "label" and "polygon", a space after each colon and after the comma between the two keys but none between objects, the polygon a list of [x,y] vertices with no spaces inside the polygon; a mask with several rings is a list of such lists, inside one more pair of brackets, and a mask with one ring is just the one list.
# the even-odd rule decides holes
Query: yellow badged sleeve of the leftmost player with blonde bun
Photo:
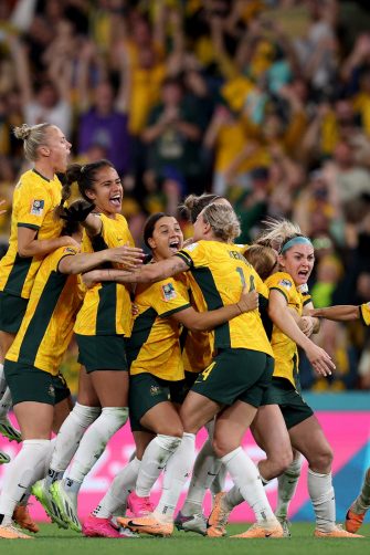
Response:
[{"label": "yellow badged sleeve of the leftmost player with blonde bun", "polygon": [[18,209],[17,226],[39,230],[52,208],[51,196],[44,187],[31,181],[22,182],[22,201]]}]

